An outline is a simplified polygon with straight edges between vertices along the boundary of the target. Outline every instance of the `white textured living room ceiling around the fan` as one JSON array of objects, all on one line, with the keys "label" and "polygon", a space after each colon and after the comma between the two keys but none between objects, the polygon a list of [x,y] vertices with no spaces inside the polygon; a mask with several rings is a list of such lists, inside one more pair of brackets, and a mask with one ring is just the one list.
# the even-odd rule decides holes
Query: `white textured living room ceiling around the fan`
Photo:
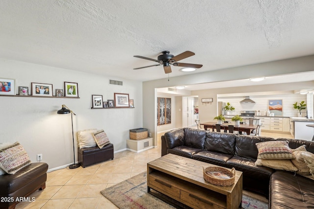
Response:
[{"label": "white textured living room ceiling around the fan", "polygon": [[[1,0],[0,57],[139,81],[314,54],[313,0]],[[172,67],[170,76],[186,73]]]}]

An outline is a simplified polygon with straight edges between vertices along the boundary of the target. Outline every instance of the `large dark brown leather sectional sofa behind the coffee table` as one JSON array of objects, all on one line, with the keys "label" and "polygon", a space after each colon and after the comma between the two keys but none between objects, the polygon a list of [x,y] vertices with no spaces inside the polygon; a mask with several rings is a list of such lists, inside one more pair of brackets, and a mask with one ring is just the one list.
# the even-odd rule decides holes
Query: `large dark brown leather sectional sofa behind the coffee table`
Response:
[{"label": "large dark brown leather sectional sofa behind the coffee table", "polygon": [[[290,195],[298,196],[294,203],[301,208],[314,207],[314,181],[294,172],[276,171],[269,167],[256,166],[258,156],[256,143],[269,140],[287,140],[290,148],[303,144],[314,153],[314,142],[298,139],[273,139],[229,133],[210,132],[191,128],[174,129],[161,137],[161,156],[168,153],[180,155],[243,172],[243,189],[259,192],[269,198],[270,208],[289,208]],[[285,178],[282,178],[282,175]],[[298,185],[288,187],[287,184]],[[292,183],[293,182],[293,183]],[[303,187],[304,186],[304,187]],[[314,190],[313,190],[314,191]],[[277,193],[276,195],[273,195]],[[298,195],[297,195],[298,194]],[[302,196],[306,198],[302,198]],[[284,203],[285,200],[286,202]],[[292,206],[292,205],[291,205]],[[304,207],[302,207],[304,206]],[[293,208],[293,207],[292,207]]]}]

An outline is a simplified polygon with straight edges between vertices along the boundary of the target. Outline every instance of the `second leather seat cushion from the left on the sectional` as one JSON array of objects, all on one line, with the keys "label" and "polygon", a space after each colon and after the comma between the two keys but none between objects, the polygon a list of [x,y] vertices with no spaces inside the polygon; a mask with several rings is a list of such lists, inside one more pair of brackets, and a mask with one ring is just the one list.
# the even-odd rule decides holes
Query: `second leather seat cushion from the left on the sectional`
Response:
[{"label": "second leather seat cushion from the left on the sectional", "polygon": [[232,157],[233,155],[230,154],[203,150],[195,153],[192,159],[223,166]]}]

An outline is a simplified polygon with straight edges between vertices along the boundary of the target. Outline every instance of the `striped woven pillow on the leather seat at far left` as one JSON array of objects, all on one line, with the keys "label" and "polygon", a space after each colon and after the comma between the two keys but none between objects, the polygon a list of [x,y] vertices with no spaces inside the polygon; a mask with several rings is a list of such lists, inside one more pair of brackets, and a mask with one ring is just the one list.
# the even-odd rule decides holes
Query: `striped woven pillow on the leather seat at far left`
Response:
[{"label": "striped woven pillow on the leather seat at far left", "polygon": [[26,150],[19,142],[0,149],[0,167],[8,174],[15,174],[30,163]]}]

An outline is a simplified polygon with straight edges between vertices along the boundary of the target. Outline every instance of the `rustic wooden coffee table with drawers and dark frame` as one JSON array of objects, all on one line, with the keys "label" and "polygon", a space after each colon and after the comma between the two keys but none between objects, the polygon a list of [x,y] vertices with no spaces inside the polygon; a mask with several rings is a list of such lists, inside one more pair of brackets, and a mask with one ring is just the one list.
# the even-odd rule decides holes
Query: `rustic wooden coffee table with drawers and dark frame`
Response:
[{"label": "rustic wooden coffee table with drawers and dark frame", "polygon": [[238,209],[242,201],[242,172],[235,171],[234,185],[216,186],[205,181],[203,166],[216,165],[165,155],[147,163],[147,190],[154,194],[154,189],[192,208]]}]

